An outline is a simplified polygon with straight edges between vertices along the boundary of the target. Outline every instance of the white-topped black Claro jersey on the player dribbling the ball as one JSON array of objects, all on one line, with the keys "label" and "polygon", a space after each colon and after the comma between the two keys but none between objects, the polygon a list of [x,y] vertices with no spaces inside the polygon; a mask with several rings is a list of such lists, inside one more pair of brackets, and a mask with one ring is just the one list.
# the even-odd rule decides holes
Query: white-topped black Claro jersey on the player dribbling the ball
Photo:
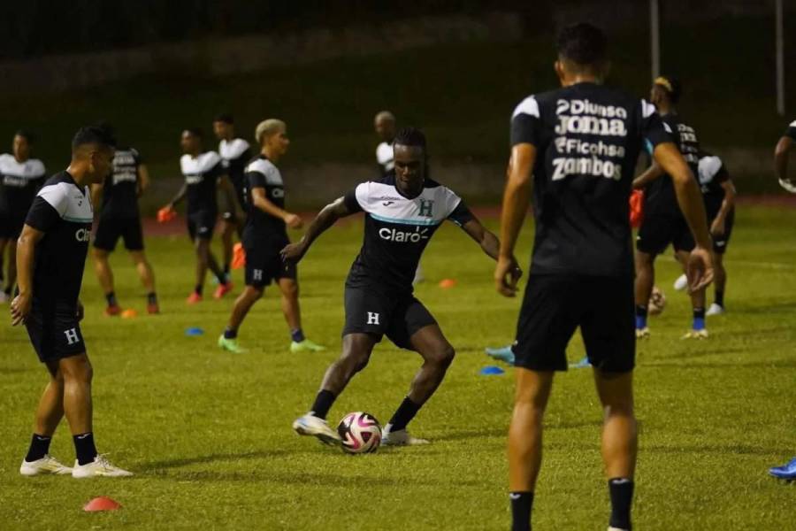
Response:
[{"label": "white-topped black Claro jersey on the player dribbling the ball", "polygon": [[350,212],[365,212],[364,242],[348,273],[351,288],[412,291],[417,263],[445,219],[459,226],[472,219],[455,193],[426,179],[419,196],[404,197],[389,175],[363,182],[345,196]]}]

